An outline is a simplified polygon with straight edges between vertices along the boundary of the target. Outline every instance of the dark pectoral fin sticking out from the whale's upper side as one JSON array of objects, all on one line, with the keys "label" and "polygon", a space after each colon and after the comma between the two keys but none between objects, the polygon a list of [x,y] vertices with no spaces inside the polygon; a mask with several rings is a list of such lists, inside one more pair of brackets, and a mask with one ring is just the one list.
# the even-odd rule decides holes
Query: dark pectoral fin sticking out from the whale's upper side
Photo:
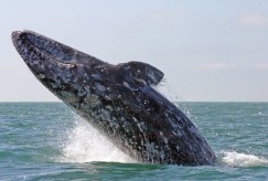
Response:
[{"label": "dark pectoral fin sticking out from the whale's upper side", "polygon": [[158,85],[164,74],[152,65],[142,62],[128,62],[121,64],[129,71],[132,78],[148,85]]}]

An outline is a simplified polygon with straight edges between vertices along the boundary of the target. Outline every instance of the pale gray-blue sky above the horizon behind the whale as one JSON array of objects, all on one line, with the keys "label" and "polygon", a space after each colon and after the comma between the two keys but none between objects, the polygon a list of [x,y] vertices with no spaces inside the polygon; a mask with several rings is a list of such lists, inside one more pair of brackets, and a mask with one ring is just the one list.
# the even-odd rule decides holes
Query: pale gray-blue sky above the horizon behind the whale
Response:
[{"label": "pale gray-blue sky above the horizon behind the whale", "polygon": [[0,24],[0,102],[57,100],[12,45],[24,29],[109,63],[150,63],[179,100],[268,102],[268,0],[7,0]]}]

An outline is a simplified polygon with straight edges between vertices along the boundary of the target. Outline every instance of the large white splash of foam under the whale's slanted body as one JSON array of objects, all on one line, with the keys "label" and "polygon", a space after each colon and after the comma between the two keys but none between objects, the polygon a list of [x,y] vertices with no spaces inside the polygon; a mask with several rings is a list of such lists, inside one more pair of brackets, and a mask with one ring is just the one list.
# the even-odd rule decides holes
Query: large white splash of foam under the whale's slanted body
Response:
[{"label": "large white splash of foam under the whale's slanted body", "polygon": [[116,148],[86,120],[75,118],[62,148],[62,162],[137,162]]}]

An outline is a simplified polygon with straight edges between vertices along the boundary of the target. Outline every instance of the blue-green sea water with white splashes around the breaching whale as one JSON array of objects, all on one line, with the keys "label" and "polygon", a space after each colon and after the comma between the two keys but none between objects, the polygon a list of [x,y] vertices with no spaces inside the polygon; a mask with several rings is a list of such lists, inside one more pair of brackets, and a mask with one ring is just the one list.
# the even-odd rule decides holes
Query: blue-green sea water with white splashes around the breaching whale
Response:
[{"label": "blue-green sea water with white splashes around the breaching whale", "polygon": [[0,180],[268,180],[268,103],[179,103],[213,167],[136,163],[62,103],[0,103]]}]

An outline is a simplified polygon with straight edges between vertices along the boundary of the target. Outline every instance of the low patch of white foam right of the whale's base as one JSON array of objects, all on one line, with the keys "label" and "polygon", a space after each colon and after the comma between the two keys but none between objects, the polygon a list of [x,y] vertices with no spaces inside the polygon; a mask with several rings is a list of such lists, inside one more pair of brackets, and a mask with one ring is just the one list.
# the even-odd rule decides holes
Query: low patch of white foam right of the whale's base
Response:
[{"label": "low patch of white foam right of the whale's base", "polygon": [[254,167],[268,164],[268,160],[254,155],[224,151],[222,161],[231,167]]}]

